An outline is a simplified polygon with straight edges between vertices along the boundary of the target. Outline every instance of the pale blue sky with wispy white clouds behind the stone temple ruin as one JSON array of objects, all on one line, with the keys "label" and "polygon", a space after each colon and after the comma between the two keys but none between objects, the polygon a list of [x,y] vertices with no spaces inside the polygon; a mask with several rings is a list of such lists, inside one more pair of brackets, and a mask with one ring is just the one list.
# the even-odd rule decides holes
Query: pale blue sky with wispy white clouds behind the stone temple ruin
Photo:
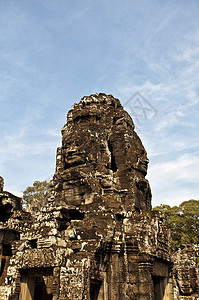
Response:
[{"label": "pale blue sky with wispy white clouds behind the stone temple ruin", "polygon": [[153,205],[199,199],[198,15],[198,0],[1,0],[5,189],[22,195],[54,174],[74,102],[104,92],[131,113],[139,92],[157,111],[134,120]]}]

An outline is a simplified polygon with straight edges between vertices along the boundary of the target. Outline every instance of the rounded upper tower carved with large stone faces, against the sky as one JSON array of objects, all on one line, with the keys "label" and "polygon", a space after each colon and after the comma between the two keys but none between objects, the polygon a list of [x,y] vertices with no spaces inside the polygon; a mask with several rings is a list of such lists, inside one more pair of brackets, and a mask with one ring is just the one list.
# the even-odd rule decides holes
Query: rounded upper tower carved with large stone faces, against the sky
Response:
[{"label": "rounded upper tower carved with large stone faces, against the sky", "polygon": [[118,100],[103,97],[95,96],[93,100],[90,96],[68,114],[57,168],[59,176],[64,174],[61,197],[63,202],[81,205],[90,203],[97,194],[107,198],[108,204],[115,201],[114,205],[122,203],[131,209],[135,204],[145,209],[150,202],[146,200],[148,182],[143,188],[134,179],[145,182],[147,153],[131,117]]}]

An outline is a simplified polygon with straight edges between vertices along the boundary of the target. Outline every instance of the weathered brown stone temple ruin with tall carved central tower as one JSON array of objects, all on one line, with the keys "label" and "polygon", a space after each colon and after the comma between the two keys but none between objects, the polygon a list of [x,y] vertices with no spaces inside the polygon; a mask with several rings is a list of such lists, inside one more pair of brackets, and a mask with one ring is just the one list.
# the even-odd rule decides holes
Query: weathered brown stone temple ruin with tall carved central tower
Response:
[{"label": "weathered brown stone temple ruin with tall carved central tower", "polygon": [[118,99],[75,104],[40,211],[25,211],[0,177],[0,299],[180,299],[147,165]]}]

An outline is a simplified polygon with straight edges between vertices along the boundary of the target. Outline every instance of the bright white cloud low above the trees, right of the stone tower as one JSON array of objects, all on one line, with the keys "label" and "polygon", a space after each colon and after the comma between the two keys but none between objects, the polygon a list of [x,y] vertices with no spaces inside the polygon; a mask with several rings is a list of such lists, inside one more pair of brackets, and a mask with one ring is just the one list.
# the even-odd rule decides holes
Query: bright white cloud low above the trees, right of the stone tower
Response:
[{"label": "bright white cloud low above the trees, right of the stone tower", "polygon": [[154,205],[179,204],[191,198],[198,199],[198,153],[184,154],[176,160],[155,163],[149,167]]}]

